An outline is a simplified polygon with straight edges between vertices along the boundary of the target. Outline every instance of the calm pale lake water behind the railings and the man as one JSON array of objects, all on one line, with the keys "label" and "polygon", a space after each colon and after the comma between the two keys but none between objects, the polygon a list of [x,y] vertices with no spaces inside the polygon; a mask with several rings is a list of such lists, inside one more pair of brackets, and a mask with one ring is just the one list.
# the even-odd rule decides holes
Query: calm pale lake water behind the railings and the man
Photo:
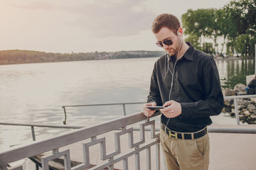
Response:
[{"label": "calm pale lake water behind the railings and the man", "polygon": [[[62,106],[146,102],[154,62],[158,57],[13,64],[0,66],[0,122],[63,125]],[[245,84],[254,74],[253,60],[216,60],[223,88]],[[127,114],[143,104],[126,106]],[[122,106],[66,108],[67,125],[90,126],[123,116]],[[213,123],[234,123],[234,118]],[[36,140],[66,130],[35,128]],[[0,125],[0,152],[31,141],[30,127]]]}]

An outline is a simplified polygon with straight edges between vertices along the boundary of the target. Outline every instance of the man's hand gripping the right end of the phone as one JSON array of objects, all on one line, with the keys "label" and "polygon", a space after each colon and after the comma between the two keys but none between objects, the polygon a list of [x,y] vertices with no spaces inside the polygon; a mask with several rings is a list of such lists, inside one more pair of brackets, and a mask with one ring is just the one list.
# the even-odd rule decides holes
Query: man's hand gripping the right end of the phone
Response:
[{"label": "man's hand gripping the right end of the phone", "polygon": [[166,108],[160,109],[166,118],[175,118],[181,115],[181,104],[176,101],[166,101],[164,105]]}]

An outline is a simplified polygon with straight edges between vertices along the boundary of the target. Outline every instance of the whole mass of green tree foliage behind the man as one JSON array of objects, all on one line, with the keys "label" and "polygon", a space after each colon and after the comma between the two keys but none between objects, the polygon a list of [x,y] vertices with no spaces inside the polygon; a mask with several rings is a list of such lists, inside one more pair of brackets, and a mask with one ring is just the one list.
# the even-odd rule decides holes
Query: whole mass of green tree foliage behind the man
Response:
[{"label": "whole mass of green tree foliage behind the man", "polygon": [[[231,1],[220,9],[188,9],[181,20],[188,33],[186,40],[191,40],[198,50],[221,55],[226,45],[227,53],[238,52],[252,56],[256,43],[255,18],[256,1],[241,0]],[[219,50],[220,40],[222,43]]]}]

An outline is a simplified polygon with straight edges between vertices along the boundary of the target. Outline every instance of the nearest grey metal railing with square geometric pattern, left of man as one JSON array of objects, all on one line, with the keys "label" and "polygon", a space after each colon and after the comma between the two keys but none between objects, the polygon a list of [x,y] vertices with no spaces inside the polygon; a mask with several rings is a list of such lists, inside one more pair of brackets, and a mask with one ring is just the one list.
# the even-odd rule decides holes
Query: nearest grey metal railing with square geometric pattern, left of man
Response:
[{"label": "nearest grey metal railing with square geometric pattern, left of man", "polygon": [[[154,116],[159,115],[159,113],[154,114]],[[144,122],[143,122],[144,120]],[[146,121],[145,121],[146,120]],[[139,140],[135,139],[133,128],[127,128],[127,126],[132,125],[136,126],[139,123]],[[136,125],[134,125],[136,124]],[[146,140],[145,137],[145,127],[150,126],[150,140]],[[121,129],[121,130],[118,130]],[[98,137],[102,134],[113,132],[114,131],[114,151],[109,154],[106,153],[106,140],[105,137]],[[122,145],[120,136],[128,135],[128,143],[130,150],[122,153]],[[84,140],[91,139],[90,142],[82,142]],[[134,142],[134,140],[138,142]],[[67,145],[75,144],[82,142],[81,147],[83,152],[83,162],[80,164],[71,167],[70,165],[70,149],[61,149]],[[100,156],[102,162],[93,167],[90,164],[90,152],[89,148],[100,144]],[[113,144],[112,144],[113,145]],[[122,169],[129,169],[128,158],[134,156],[134,165],[135,169],[140,169],[140,157],[139,154],[146,150],[146,166],[148,169],[151,168],[151,147],[156,147],[156,167],[153,169],[160,169],[160,150],[159,150],[159,133],[156,133],[155,130],[155,121],[149,120],[146,118],[143,113],[135,113],[132,115],[127,115],[122,118],[117,118],[116,120],[109,121],[107,123],[102,123],[100,125],[95,125],[90,128],[81,128],[73,132],[68,132],[65,135],[59,135],[52,137],[48,140],[42,140],[39,142],[33,142],[29,145],[23,147],[17,147],[6,152],[0,153],[0,169],[7,170],[8,164],[11,162],[16,162],[20,159],[33,157],[35,155],[52,151],[51,154],[44,155],[41,157],[42,169],[49,169],[49,162],[53,159],[64,157],[65,169],[68,170],[78,170],[78,169],[114,169],[114,164],[117,162],[123,162]],[[122,153],[122,154],[120,154]],[[131,166],[131,165],[130,165]],[[23,169],[22,166],[18,166],[16,169]],[[132,168],[133,169],[133,168]]]}]

